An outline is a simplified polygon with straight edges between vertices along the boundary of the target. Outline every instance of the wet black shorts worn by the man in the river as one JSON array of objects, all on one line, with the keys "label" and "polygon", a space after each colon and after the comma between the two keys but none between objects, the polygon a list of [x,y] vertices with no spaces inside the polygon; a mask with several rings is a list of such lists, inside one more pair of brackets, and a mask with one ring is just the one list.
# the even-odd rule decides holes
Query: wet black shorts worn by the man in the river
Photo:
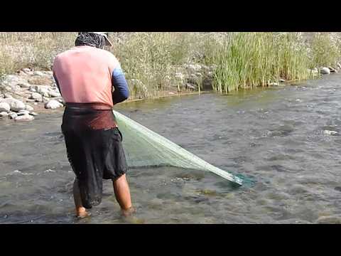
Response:
[{"label": "wet black shorts worn by the man in the river", "polygon": [[[62,132],[67,158],[74,171],[82,205],[97,206],[102,201],[103,179],[117,179],[126,174],[128,166],[122,146],[122,134],[117,127],[91,129],[89,120],[101,122],[98,110],[65,110]],[[105,115],[114,115],[112,111]],[[111,118],[111,117],[110,117]],[[105,117],[107,122],[107,117]],[[92,122],[93,123],[93,122]]]}]

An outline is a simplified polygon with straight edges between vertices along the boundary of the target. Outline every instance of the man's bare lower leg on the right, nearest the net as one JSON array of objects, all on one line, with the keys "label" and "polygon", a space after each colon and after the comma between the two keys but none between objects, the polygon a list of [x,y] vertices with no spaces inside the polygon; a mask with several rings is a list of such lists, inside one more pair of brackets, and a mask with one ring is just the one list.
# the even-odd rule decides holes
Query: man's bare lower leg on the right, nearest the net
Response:
[{"label": "man's bare lower leg on the right, nearest the net", "polygon": [[126,181],[126,175],[122,175],[113,181],[114,192],[116,200],[121,206],[123,215],[130,215],[134,213],[134,208],[131,204],[131,196],[128,182]]}]

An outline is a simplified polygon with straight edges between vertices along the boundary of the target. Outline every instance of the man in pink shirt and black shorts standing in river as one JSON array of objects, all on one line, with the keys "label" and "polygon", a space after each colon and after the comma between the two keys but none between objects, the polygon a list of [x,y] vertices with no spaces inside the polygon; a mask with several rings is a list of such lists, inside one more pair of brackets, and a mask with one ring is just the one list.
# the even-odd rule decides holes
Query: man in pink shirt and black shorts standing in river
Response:
[{"label": "man in pink shirt and black shorts standing in river", "polygon": [[53,63],[53,77],[66,102],[62,131],[76,176],[73,196],[79,218],[101,203],[103,179],[113,181],[122,213],[134,212],[122,135],[112,112],[129,97],[129,89],[117,58],[104,46],[112,46],[107,32],[80,32],[75,47]]}]

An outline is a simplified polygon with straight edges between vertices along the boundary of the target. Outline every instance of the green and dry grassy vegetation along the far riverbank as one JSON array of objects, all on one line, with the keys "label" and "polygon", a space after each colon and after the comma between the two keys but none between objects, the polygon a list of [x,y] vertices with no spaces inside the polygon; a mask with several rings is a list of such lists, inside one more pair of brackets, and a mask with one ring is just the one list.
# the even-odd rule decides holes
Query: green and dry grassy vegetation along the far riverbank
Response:
[{"label": "green and dry grassy vegetation along the far riverbank", "polygon": [[[0,33],[0,74],[50,70],[77,33]],[[305,80],[313,68],[337,68],[339,33],[111,33],[110,49],[129,80],[132,98],[200,90],[208,78],[217,92]],[[202,65],[193,83],[188,65]],[[199,80],[197,78],[200,78]]]}]

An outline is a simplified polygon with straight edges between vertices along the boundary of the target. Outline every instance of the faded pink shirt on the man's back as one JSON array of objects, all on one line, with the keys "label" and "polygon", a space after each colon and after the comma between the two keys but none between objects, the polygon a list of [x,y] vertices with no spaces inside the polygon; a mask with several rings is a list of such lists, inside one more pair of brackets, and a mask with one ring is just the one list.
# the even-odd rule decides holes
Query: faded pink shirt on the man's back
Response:
[{"label": "faded pink shirt on the man's back", "polygon": [[112,74],[119,66],[117,58],[107,50],[77,46],[55,58],[53,75],[65,102],[113,107]]}]

